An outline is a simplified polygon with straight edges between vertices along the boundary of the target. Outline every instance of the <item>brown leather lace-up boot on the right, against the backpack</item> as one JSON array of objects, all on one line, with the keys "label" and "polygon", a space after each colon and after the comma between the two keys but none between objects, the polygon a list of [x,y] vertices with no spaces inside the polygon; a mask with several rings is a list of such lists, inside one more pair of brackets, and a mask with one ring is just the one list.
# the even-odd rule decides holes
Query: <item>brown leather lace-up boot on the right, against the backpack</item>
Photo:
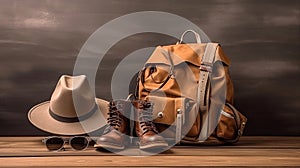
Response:
[{"label": "brown leather lace-up boot on the right, against the backpack", "polygon": [[143,100],[133,101],[135,107],[135,131],[139,137],[140,149],[159,149],[168,146],[164,138],[158,135],[153,120],[153,104]]}]

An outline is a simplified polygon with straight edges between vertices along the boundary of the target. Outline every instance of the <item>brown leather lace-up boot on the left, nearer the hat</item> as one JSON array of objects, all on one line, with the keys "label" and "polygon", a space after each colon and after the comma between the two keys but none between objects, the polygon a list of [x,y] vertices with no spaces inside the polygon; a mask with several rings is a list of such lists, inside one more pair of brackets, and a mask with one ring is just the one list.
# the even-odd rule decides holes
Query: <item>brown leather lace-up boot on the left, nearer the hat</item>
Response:
[{"label": "brown leather lace-up boot on the left, nearer the hat", "polygon": [[131,112],[131,103],[126,100],[110,102],[107,127],[97,139],[95,148],[124,149],[129,142],[130,121],[124,116]]}]

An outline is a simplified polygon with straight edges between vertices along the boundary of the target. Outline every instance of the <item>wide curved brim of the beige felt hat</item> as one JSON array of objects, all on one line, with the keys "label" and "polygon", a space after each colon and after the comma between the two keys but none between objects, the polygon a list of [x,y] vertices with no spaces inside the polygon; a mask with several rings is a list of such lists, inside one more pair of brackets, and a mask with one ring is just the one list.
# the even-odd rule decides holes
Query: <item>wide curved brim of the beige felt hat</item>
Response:
[{"label": "wide curved brim of the beige felt hat", "polygon": [[55,120],[49,113],[49,101],[40,103],[28,112],[29,121],[37,128],[59,135],[80,135],[98,130],[106,125],[108,102],[96,99],[98,110],[80,122],[62,122]]}]

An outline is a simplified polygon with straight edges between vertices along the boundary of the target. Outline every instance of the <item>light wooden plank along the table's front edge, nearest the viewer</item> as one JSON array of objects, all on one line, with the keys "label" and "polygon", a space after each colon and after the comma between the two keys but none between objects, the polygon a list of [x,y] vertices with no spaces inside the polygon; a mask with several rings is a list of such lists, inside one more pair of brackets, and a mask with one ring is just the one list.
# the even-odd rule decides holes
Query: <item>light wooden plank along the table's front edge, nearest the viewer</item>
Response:
[{"label": "light wooden plank along the table's front edge, nearest the viewer", "polygon": [[299,157],[269,156],[65,156],[0,158],[4,167],[38,166],[300,166]]}]

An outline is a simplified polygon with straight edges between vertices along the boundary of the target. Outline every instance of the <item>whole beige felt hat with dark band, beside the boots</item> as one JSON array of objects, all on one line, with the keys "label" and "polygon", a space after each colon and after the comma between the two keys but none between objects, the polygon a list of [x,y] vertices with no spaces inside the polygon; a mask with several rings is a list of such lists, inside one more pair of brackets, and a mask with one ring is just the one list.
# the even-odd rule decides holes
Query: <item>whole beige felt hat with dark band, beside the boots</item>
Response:
[{"label": "whole beige felt hat with dark band, beside the boots", "polygon": [[79,135],[103,127],[107,112],[108,102],[95,98],[86,76],[63,75],[50,101],[31,108],[28,119],[43,131]]}]

